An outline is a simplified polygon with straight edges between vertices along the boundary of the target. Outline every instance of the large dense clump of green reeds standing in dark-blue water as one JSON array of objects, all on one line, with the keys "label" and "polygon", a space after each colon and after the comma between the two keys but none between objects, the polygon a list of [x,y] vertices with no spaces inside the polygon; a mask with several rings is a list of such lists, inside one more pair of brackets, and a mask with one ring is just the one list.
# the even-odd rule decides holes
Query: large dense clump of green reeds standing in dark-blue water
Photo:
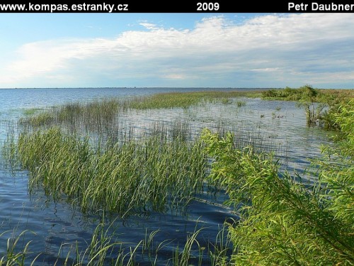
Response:
[{"label": "large dense clump of green reeds standing in dark-blue water", "polygon": [[30,187],[69,196],[84,211],[105,209],[165,211],[185,206],[202,191],[207,166],[200,142],[153,136],[91,148],[88,138],[59,128],[21,133],[21,164],[30,170]]}]

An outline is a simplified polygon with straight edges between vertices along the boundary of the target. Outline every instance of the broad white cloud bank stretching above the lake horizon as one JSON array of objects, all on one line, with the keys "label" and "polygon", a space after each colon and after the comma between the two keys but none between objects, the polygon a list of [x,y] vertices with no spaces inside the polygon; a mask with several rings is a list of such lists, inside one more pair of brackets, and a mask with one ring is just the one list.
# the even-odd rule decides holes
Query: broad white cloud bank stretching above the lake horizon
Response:
[{"label": "broad white cloud bank stretching above the lake horizon", "polygon": [[3,68],[0,87],[35,80],[55,87],[105,81],[126,86],[132,80],[171,87],[354,83],[351,13],[257,16],[242,24],[215,16],[182,30],[148,21],[139,25],[144,31],[125,31],[112,39],[25,44]]}]

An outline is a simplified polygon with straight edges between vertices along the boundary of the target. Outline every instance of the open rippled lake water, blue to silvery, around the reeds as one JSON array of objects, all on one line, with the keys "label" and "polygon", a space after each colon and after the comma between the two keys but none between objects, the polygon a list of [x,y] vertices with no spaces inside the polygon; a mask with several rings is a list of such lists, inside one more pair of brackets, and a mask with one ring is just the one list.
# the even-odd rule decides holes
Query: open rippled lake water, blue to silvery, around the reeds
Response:
[{"label": "open rippled lake water, blue to silvery, around the reeds", "polygon": [[[113,96],[126,98],[196,90],[207,89],[0,89],[0,140],[5,140],[9,127],[16,127],[16,121],[23,116],[25,109],[45,109],[70,101],[92,101]],[[258,143],[260,148],[275,150],[283,168],[299,172],[309,165],[307,158],[319,155],[320,144],[328,141],[326,132],[320,128],[307,127],[304,111],[293,102],[261,99],[237,101],[245,101],[246,106],[238,107],[235,103],[207,104],[186,110],[130,111],[120,118],[124,119],[124,123],[130,123],[135,132],[149,128],[154,123],[164,123],[168,127],[170,121],[188,123],[189,128],[193,128],[191,135],[198,135],[205,127],[215,130],[222,127],[234,131],[242,145]],[[205,228],[200,234],[200,243],[206,245],[207,240],[215,243],[219,227],[225,219],[237,218],[231,209],[222,206],[225,199],[222,194],[214,197],[205,193],[192,201],[183,215],[168,211],[166,214],[150,213],[149,216],[137,214],[125,220],[118,218],[119,240],[138,243],[146,232],[159,229],[154,238],[157,242],[171,240],[161,249],[159,264],[166,265],[166,260],[173,255],[173,248],[176,248],[177,243],[183,243],[186,235],[193,232],[196,226]],[[0,163],[0,234],[5,232],[0,236],[0,254],[5,252],[6,240],[13,233],[16,236],[23,230],[29,230],[25,238],[19,241],[18,247],[23,248],[28,240],[33,240],[30,250],[33,254],[42,253],[37,265],[52,265],[57,260],[59,250],[62,250],[59,257],[65,257],[70,245],[76,241],[79,246],[86,247],[100,222],[99,217],[81,214],[76,206],[67,204],[64,199],[55,202],[45,196],[41,189],[28,194],[28,172],[10,172],[4,162]]]}]

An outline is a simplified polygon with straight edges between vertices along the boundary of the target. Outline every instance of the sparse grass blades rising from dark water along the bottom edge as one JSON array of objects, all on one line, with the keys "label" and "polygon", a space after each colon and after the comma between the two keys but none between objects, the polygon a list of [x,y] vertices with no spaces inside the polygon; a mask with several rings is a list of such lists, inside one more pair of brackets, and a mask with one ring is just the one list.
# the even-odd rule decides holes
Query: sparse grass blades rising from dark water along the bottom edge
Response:
[{"label": "sparse grass blades rising from dark water along the bottom edge", "polygon": [[[79,243],[62,243],[57,252],[57,257],[50,258],[47,262],[45,253],[30,251],[33,243],[24,242],[23,237],[28,231],[22,231],[17,236],[11,233],[7,240],[6,254],[0,257],[0,265],[72,265],[72,266],[128,266],[128,265],[229,265],[232,254],[232,243],[224,241],[226,228],[223,227],[215,243],[210,241],[200,242],[199,235],[205,228],[198,228],[196,223],[193,233],[186,235],[183,243],[176,243],[174,239],[166,239],[161,243],[156,242],[159,230],[146,232],[142,240],[136,243],[127,243],[120,240],[118,226],[114,222],[105,223],[102,218],[94,229],[91,239],[83,246]],[[5,235],[5,231],[0,234]],[[222,241],[222,243],[220,242]],[[21,244],[21,247],[19,245]],[[169,245],[169,255],[166,257],[166,245]],[[163,253],[163,254],[161,254]],[[204,254],[207,255],[204,255]],[[0,255],[1,256],[1,255]]]}]

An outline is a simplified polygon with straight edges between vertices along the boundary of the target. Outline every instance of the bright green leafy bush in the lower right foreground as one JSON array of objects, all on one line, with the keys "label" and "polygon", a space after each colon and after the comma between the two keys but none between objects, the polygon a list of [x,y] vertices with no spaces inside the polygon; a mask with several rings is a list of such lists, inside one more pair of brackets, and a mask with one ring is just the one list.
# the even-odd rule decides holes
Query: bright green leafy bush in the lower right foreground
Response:
[{"label": "bright green leafy bush in the lower right foreground", "polygon": [[321,182],[307,187],[280,173],[271,155],[235,149],[230,133],[205,130],[202,139],[214,160],[210,181],[224,186],[240,214],[229,227],[236,265],[353,264],[353,167],[342,166],[341,180],[324,165]]}]

